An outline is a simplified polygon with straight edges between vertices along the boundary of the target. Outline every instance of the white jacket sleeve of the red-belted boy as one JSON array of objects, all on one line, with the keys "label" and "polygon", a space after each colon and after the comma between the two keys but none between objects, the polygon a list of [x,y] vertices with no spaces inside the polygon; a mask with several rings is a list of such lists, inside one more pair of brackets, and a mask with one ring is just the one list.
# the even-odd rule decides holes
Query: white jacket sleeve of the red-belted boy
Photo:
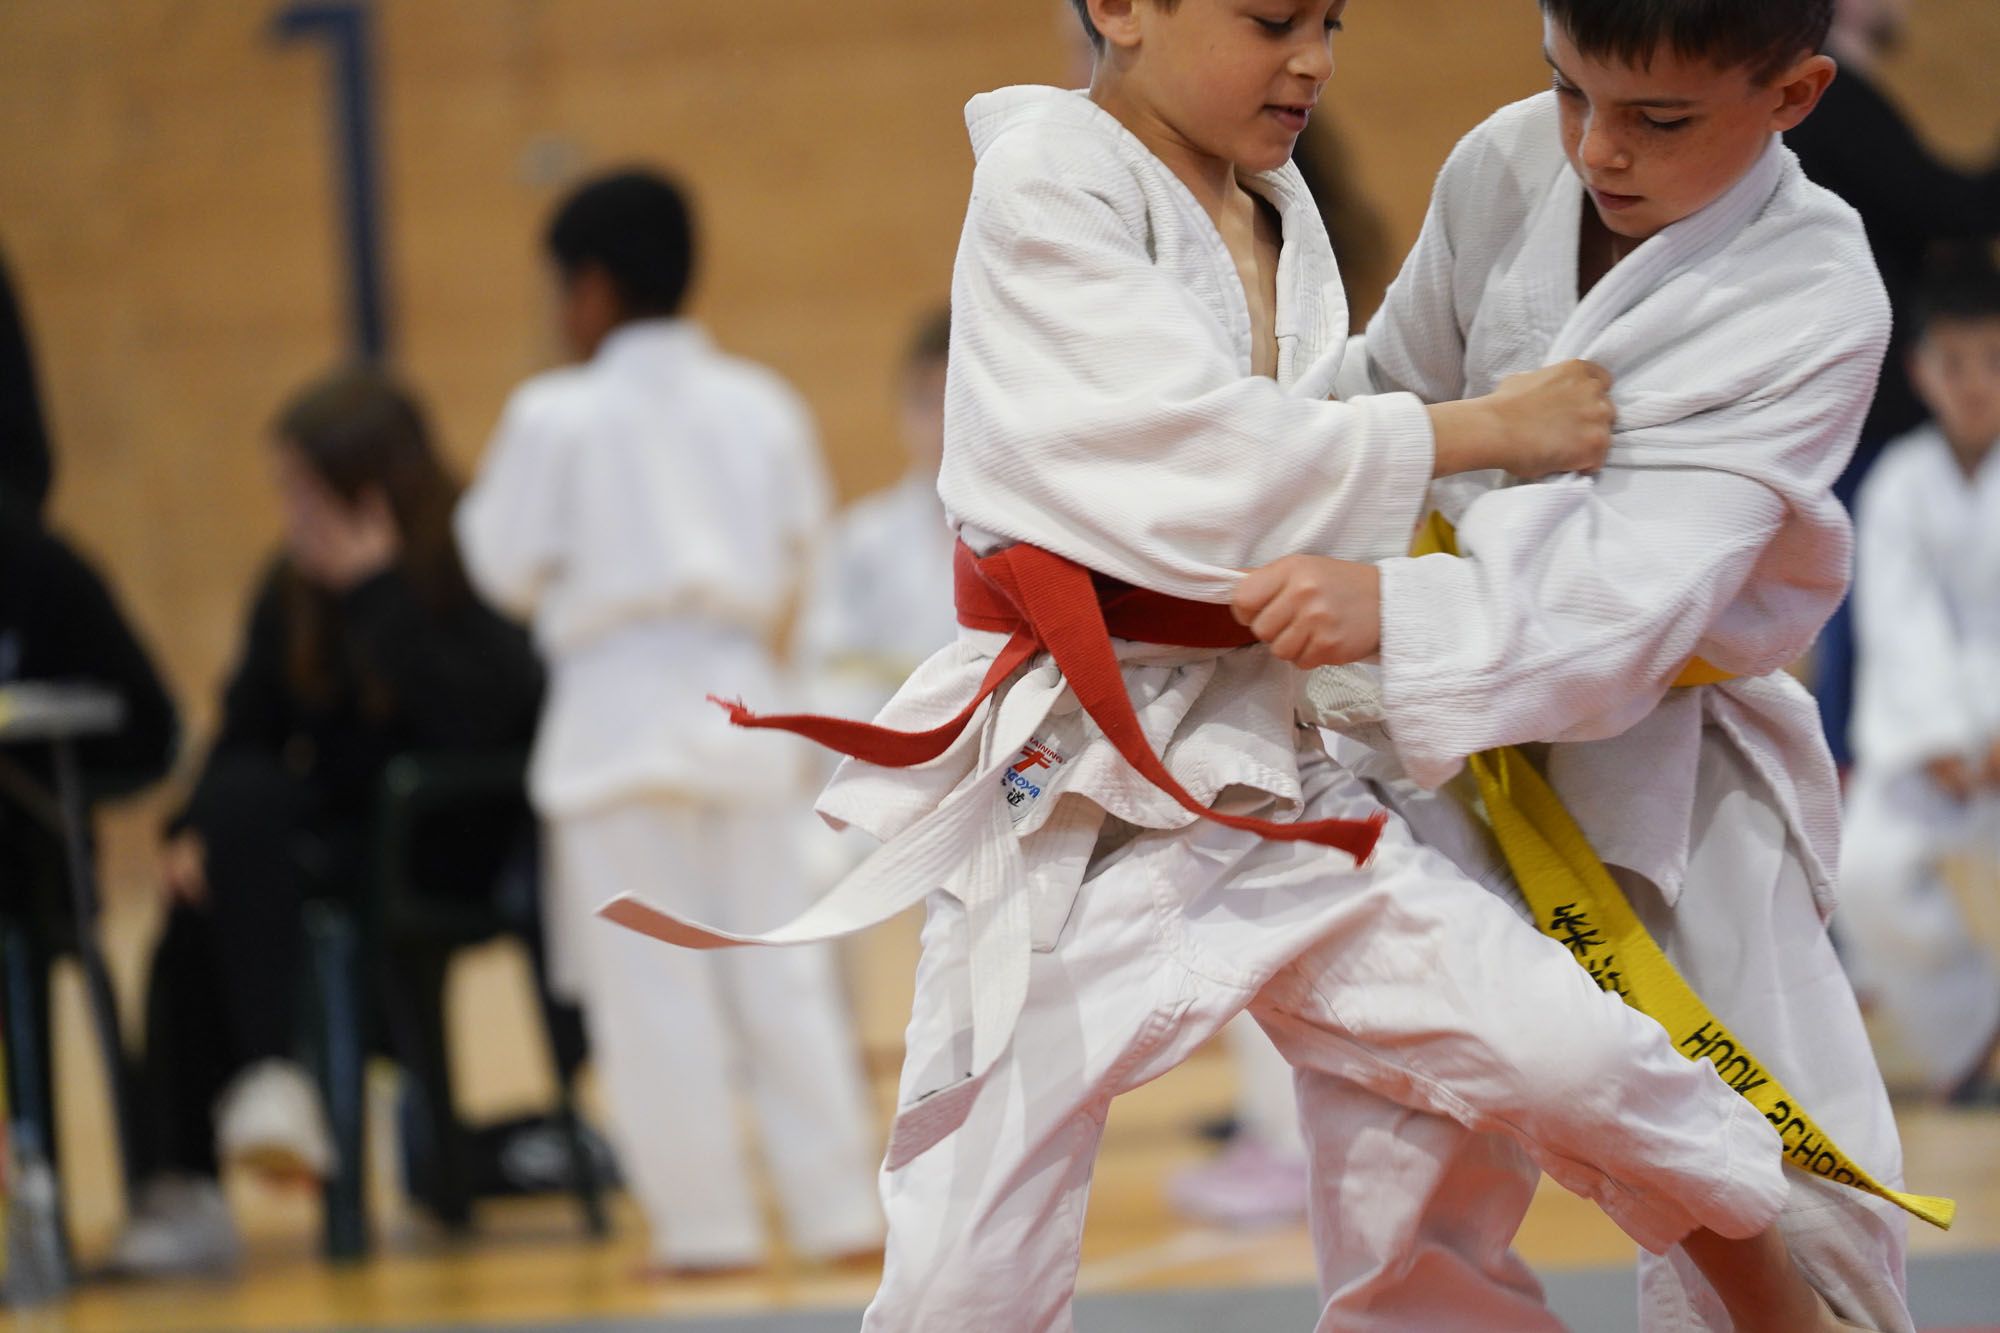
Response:
[{"label": "white jacket sleeve of the red-belted boy", "polygon": [[940,492],[960,524],[1206,602],[1286,554],[1404,548],[1434,462],[1414,396],[1252,376],[1246,342],[1148,256],[1116,158],[1104,188],[996,180],[992,160],[954,280]]}]

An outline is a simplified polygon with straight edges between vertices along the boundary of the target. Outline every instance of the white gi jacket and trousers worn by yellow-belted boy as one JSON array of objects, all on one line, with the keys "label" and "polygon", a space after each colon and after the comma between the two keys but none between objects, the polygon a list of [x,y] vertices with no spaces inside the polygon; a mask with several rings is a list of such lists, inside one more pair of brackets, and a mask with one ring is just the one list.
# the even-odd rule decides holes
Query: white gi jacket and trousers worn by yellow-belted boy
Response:
[{"label": "white gi jacket and trousers worn by yellow-belted boy", "polygon": [[[1838,783],[1812,699],[1782,671],[1846,588],[1852,538],[1832,482],[1872,396],[1888,302],[1856,214],[1776,138],[1722,198],[1578,298],[1584,208],[1554,94],[1500,110],[1446,162],[1366,358],[1348,360],[1346,392],[1426,400],[1570,356],[1616,376],[1600,476],[1446,478],[1434,502],[1472,558],[1382,564],[1386,745],[1438,785],[1470,753],[1554,741],[1540,751],[1550,783],[1682,975],[1828,1133],[1898,1183],[1888,1099],[1820,929]],[[1674,689],[1694,656],[1738,679]],[[1328,679],[1316,697],[1340,693]],[[1468,849],[1478,865],[1468,839],[1454,855]],[[1434,1225],[1468,1251],[1482,1233],[1504,1245],[1532,1191],[1518,1183],[1500,1203],[1486,1185],[1436,1183],[1412,1235]],[[1888,1205],[1796,1177],[1782,1225],[1838,1309],[1910,1327],[1904,1219]],[[1684,1255],[1644,1255],[1640,1275],[1648,1331],[1726,1327]]]}]

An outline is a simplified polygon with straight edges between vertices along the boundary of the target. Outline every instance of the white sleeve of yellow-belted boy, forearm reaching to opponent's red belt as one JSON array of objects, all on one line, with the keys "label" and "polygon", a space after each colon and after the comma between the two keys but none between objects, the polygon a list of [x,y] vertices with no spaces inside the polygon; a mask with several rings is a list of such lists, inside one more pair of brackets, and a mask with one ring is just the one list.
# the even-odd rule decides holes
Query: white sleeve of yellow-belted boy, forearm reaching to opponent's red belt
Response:
[{"label": "white sleeve of yellow-belted boy, forearm reaching to opponent's red belt", "polygon": [[1638,723],[1784,516],[1744,476],[1618,468],[1480,496],[1466,558],[1382,562],[1382,699],[1410,777],[1436,787],[1478,751]]}]

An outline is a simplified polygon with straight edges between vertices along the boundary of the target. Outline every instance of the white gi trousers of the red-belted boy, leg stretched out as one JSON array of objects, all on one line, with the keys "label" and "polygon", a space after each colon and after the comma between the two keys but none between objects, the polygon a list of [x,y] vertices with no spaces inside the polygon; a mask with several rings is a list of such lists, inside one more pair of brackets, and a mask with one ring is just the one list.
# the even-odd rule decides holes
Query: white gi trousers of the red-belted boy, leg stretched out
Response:
[{"label": "white gi trousers of the red-belted boy, leg stretched out", "polygon": [[[1300,819],[1378,809],[1324,755],[1302,753],[1300,777]],[[1056,947],[1034,955],[1012,1045],[964,1127],[884,1171],[888,1261],[864,1329],[1070,1329],[1110,1101],[1244,1009],[1326,1087],[1360,1083],[1518,1141],[1646,1245],[1696,1225],[1748,1235],[1776,1215],[1786,1181],[1770,1125],[1400,821],[1366,867],[1212,823],[1120,833],[1132,837],[1100,839]],[[934,895],[902,1105],[968,1067],[968,971],[964,911]],[[1308,1131],[1328,1115],[1314,1087]],[[1356,1201],[1356,1227],[1376,1203],[1388,1225],[1414,1211],[1338,1177],[1314,1185]]]}]

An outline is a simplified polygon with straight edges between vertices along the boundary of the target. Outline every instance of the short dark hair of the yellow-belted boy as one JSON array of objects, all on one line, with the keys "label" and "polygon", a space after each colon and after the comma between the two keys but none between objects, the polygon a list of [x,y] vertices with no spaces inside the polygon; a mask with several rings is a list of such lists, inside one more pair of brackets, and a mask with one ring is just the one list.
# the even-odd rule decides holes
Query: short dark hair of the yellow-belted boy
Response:
[{"label": "short dark hair of the yellow-belted boy", "polygon": [[1816,54],[1834,24],[1834,0],[1540,0],[1576,48],[1646,68],[1662,46],[1686,60],[1776,78]]}]

